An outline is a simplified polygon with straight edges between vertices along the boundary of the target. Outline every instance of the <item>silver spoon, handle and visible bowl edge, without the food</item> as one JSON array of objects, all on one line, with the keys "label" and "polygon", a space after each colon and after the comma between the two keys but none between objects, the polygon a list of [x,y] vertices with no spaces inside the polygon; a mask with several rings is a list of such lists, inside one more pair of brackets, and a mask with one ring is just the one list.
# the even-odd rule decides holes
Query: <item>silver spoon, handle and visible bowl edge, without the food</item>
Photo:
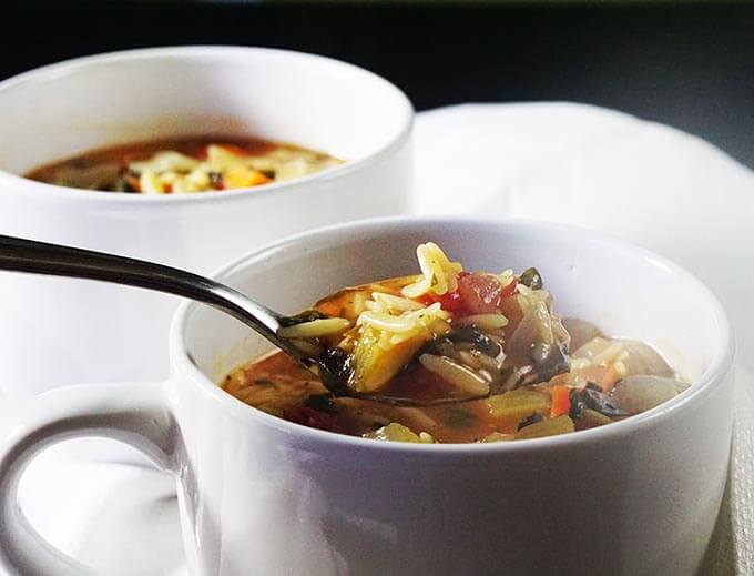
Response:
[{"label": "silver spoon, handle and visible bowl edge, without the food", "polygon": [[243,322],[307,368],[318,366],[320,381],[336,396],[353,396],[405,406],[469,400],[440,398],[422,403],[411,398],[360,394],[347,384],[350,372],[347,354],[326,348],[320,355],[312,356],[291,340],[278,335],[283,326],[295,323],[294,316],[279,314],[231,286],[184,270],[4,235],[0,235],[0,270],[99,280],[166,292],[208,304]]}]

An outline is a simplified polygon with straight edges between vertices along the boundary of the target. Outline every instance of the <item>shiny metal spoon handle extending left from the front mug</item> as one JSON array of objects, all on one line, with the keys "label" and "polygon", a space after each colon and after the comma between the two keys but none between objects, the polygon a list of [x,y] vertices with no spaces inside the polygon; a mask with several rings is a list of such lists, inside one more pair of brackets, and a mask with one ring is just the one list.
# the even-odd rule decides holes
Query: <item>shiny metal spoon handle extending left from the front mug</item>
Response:
[{"label": "shiny metal spoon handle extending left from the front mug", "polygon": [[237,290],[171,266],[0,235],[0,270],[99,280],[184,296],[231,314],[278,347],[291,347],[277,336],[277,313]]}]

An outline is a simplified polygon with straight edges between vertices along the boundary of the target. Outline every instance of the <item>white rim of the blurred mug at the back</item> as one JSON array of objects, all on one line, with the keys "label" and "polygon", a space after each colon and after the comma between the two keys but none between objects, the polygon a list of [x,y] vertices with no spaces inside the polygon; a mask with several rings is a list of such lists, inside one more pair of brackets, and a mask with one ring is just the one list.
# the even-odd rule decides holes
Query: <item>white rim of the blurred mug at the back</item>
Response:
[{"label": "white rim of the blurred mug at the back", "polygon": [[[403,115],[400,129],[391,137],[389,140],[383,144],[380,148],[374,152],[356,159],[346,160],[343,164],[328,168],[322,172],[315,172],[305,176],[296,178],[293,180],[276,182],[272,184],[266,184],[264,186],[251,186],[251,188],[240,188],[235,190],[224,190],[218,193],[196,193],[196,194],[134,194],[129,192],[101,192],[96,190],[83,190],[71,186],[60,186],[57,184],[48,184],[45,182],[38,182],[35,180],[30,180],[19,174],[13,174],[0,168],[0,182],[7,182],[13,184],[12,188],[26,188],[23,193],[42,193],[51,194],[54,196],[63,196],[67,200],[73,201],[96,201],[106,202],[110,204],[118,203],[165,203],[165,202],[180,202],[180,203],[196,203],[196,202],[222,202],[231,201],[232,199],[244,196],[246,194],[269,194],[269,193],[282,193],[286,189],[293,189],[299,185],[306,185],[309,182],[317,181],[328,181],[333,179],[340,178],[340,175],[349,174],[354,171],[361,170],[365,165],[374,164],[383,160],[385,156],[390,155],[390,153],[400,148],[410,137],[414,128],[414,105],[408,99],[406,93],[400,90],[396,84],[389,80],[371,72],[365,68],[360,68],[356,64],[349,62],[344,62],[343,60],[337,60],[335,58],[329,58],[326,55],[314,54],[309,52],[298,52],[295,50],[284,50],[278,48],[265,48],[265,47],[244,47],[244,46],[222,46],[222,44],[194,44],[194,46],[172,46],[172,47],[160,47],[160,48],[139,48],[133,50],[119,50],[115,52],[103,52],[100,54],[91,54],[80,58],[72,58],[69,60],[63,60],[52,64],[47,64],[43,67],[34,68],[27,72],[21,72],[20,74],[13,75],[0,82],[0,92],[6,90],[12,90],[16,85],[22,83],[32,83],[49,79],[54,79],[54,77],[61,73],[75,72],[80,68],[85,68],[91,64],[100,64],[108,62],[123,62],[130,60],[144,60],[144,59],[156,59],[165,55],[192,55],[200,53],[256,53],[256,54],[271,54],[283,58],[299,59],[316,61],[319,64],[326,64],[330,68],[340,68],[347,70],[349,73],[360,74],[365,78],[369,78],[377,83],[384,84],[384,87],[393,92],[396,102],[401,108],[400,113]],[[11,188],[11,189],[12,189]],[[92,194],[94,193],[94,194]],[[94,199],[90,198],[94,196]],[[221,200],[222,199],[222,200]]]}]

